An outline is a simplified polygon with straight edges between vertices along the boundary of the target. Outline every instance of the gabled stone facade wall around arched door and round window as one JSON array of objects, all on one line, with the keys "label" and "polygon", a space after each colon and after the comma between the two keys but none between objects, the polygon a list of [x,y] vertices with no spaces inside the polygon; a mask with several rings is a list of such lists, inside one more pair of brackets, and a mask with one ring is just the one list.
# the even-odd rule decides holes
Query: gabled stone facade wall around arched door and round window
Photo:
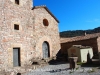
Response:
[{"label": "gabled stone facade wall around arched door and round window", "polygon": [[[59,38],[59,31],[58,31],[58,23],[57,21],[44,9],[38,8],[34,9],[34,28],[35,28],[35,37],[37,44],[36,51],[37,56],[42,57],[42,43],[47,41],[50,45],[50,56],[53,57],[57,54],[58,50],[60,50],[60,38]],[[49,25],[43,25],[43,19],[47,19]],[[33,32],[34,33],[34,32]]]}]

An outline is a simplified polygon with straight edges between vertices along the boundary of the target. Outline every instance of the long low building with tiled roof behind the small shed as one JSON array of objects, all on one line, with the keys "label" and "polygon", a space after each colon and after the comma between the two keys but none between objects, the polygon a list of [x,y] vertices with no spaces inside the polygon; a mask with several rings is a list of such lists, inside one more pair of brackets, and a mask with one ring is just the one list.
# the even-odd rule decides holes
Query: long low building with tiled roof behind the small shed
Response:
[{"label": "long low building with tiled roof behind the small shed", "polygon": [[72,45],[91,46],[95,58],[99,58],[100,52],[100,33],[86,34],[85,36],[76,36],[71,38],[61,38],[61,53],[68,55],[68,49]]}]

